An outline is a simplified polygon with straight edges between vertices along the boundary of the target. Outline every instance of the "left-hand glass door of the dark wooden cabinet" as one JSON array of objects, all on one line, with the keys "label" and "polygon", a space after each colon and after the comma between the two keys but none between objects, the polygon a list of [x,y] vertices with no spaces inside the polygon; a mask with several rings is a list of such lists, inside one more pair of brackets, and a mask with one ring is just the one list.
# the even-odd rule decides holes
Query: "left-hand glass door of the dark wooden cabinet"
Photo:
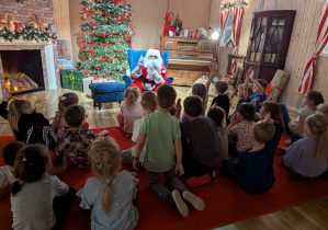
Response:
[{"label": "left-hand glass door of the dark wooden cabinet", "polygon": [[268,18],[255,18],[253,33],[250,38],[251,49],[249,55],[250,61],[260,61],[263,50],[264,33],[268,23]]}]

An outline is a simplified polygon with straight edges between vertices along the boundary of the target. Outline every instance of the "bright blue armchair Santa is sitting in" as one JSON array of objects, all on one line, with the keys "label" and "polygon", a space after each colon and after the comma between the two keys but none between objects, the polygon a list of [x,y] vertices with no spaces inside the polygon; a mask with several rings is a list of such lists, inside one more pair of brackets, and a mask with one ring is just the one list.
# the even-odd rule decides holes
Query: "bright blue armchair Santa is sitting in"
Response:
[{"label": "bright blue armchair Santa is sitting in", "polygon": [[[143,57],[145,57],[146,54],[147,54],[147,50],[127,49],[127,60],[128,60],[128,66],[129,66],[131,71],[137,67],[142,55],[143,55]],[[165,67],[168,69],[170,51],[162,51],[161,58],[162,58],[162,62],[163,62]],[[173,77],[168,77],[167,80],[168,80],[168,84],[171,84],[173,81]],[[133,80],[132,80],[132,82],[133,82]]]}]

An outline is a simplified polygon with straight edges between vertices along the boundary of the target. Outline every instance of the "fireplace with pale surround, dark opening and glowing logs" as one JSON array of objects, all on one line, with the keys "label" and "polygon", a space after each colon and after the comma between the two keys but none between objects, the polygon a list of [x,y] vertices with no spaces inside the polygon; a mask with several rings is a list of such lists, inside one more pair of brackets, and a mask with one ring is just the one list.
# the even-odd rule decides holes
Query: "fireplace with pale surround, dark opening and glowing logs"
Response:
[{"label": "fireplace with pale surround, dark opening and glowing logs", "polygon": [[[58,89],[60,77],[55,50],[57,44],[50,41],[10,43],[0,39],[0,99],[4,96],[4,89],[13,95]],[[10,89],[10,82],[14,82],[16,89]]]}]

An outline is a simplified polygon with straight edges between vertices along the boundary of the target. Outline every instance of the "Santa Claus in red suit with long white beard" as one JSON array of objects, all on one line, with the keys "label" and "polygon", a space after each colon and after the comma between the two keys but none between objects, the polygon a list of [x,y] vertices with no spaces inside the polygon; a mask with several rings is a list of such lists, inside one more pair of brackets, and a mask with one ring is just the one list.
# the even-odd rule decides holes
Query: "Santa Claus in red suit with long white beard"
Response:
[{"label": "Santa Claus in red suit with long white beard", "polygon": [[162,62],[160,49],[149,48],[146,57],[140,57],[131,77],[134,80],[131,87],[139,88],[140,94],[143,94],[143,90],[156,92],[160,85],[167,84],[167,68]]}]

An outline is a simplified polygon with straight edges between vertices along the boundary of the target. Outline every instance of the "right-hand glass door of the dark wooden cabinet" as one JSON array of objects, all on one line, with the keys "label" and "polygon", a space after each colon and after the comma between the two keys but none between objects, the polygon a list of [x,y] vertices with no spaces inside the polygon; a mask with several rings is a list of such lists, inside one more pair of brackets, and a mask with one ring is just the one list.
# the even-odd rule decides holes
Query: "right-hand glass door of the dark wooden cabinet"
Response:
[{"label": "right-hand glass door of the dark wooden cabinet", "polygon": [[264,47],[264,62],[276,64],[285,26],[285,18],[272,18]]}]

